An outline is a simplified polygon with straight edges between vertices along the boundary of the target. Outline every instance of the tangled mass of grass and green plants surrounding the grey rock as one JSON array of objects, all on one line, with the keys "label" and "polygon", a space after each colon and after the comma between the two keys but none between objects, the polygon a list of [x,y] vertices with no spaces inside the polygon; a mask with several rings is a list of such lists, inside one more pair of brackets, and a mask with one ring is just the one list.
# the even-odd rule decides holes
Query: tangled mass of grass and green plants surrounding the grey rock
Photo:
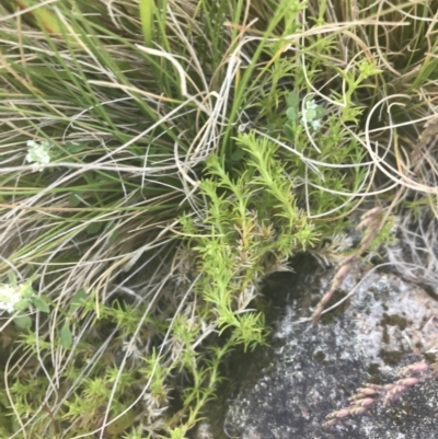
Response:
[{"label": "tangled mass of grass and green plants surrounding the grey rock", "polygon": [[266,274],[435,218],[438,4],[335,3],[2,2],[1,437],[186,437]]}]

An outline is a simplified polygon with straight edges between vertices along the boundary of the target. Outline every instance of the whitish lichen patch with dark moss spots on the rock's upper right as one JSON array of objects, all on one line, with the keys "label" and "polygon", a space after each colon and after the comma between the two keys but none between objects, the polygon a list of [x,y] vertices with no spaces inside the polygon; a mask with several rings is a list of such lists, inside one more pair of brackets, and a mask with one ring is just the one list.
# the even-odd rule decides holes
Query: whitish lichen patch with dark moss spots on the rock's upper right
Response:
[{"label": "whitish lichen patch with dark moss spots on the rock's upper right", "polygon": [[438,347],[438,302],[394,275],[370,274],[349,312],[357,321],[355,349],[381,366],[382,350],[418,355]]}]

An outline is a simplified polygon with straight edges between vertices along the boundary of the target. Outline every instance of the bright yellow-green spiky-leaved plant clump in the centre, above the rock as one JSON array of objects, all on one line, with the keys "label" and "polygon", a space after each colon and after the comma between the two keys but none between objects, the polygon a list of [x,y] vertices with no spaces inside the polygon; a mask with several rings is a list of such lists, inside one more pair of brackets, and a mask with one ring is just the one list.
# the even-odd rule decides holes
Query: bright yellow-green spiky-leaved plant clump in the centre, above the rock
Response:
[{"label": "bright yellow-green spiky-leaved plant clump in the centre, above the rock", "polygon": [[[254,135],[237,139],[246,153],[240,176],[233,178],[217,157],[207,161],[209,178],[200,189],[207,197],[207,216],[183,219],[183,231],[198,255],[195,288],[214,314],[221,332],[232,330],[233,343],[254,347],[264,340],[263,316],[245,312],[267,273],[286,267],[291,250],[306,250],[316,234],[293,196],[295,182],[278,161],[275,143]],[[201,319],[207,319],[211,313]]]}]

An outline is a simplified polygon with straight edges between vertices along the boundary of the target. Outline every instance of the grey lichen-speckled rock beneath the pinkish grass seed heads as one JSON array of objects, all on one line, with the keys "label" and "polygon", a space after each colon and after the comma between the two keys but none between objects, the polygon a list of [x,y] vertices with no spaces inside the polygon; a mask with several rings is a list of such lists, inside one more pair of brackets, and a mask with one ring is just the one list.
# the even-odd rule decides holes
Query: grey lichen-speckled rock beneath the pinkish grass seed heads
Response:
[{"label": "grey lichen-speckled rock beneath the pinkish grass seed heads", "polygon": [[346,300],[311,326],[298,322],[310,316],[335,274],[330,269],[318,276],[311,270],[296,275],[293,287],[287,285],[291,299],[278,321],[269,362],[252,361],[251,381],[243,380],[229,405],[226,435],[234,439],[438,437],[438,380],[422,381],[424,374],[390,406],[373,404],[364,415],[323,426],[330,413],[349,405],[348,397],[365,382],[391,383],[400,379],[401,368],[437,360],[438,302],[395,274],[355,263],[334,298]]}]

